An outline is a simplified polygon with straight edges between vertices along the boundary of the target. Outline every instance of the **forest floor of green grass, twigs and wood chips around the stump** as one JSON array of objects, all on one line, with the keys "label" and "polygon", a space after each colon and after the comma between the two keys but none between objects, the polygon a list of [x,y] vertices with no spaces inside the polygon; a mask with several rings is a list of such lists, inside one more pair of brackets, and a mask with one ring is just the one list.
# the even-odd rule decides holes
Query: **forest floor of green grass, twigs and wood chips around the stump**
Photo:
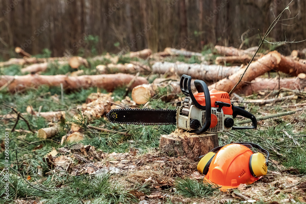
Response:
[{"label": "forest floor of green grass, twigs and wood chips around the stump", "polygon": [[[119,62],[128,63],[129,58]],[[169,57],[165,61],[200,62],[195,58]],[[106,62],[100,62],[106,63]],[[141,63],[148,63],[141,61]],[[90,69],[94,69],[92,65]],[[21,66],[2,68],[2,75],[22,75]],[[90,69],[81,67],[84,72]],[[50,65],[45,75],[66,74],[73,69],[68,65]],[[275,73],[271,73],[272,75]],[[275,75],[276,76],[276,75]],[[149,82],[160,76],[149,76]],[[268,77],[268,76],[265,76]],[[295,99],[256,105],[235,102],[244,106],[256,117],[297,111],[295,114],[258,122],[257,129],[230,131],[219,134],[219,145],[233,142],[252,142],[270,153],[268,173],[251,185],[240,185],[226,192],[203,183],[203,175],[197,171],[197,162],[184,156],[169,157],[159,152],[161,134],[175,130],[174,125],[125,125],[111,124],[105,117],[73,118],[76,107],[86,103],[97,88],[65,92],[61,88],[41,86],[10,94],[0,92],[2,115],[0,123],[1,166],[0,203],[305,203],[306,202],[306,106],[294,106],[305,102],[305,93]],[[99,90],[98,90],[99,91]],[[106,91],[100,90],[103,93]],[[160,90],[147,107],[174,109],[178,95],[172,102],[160,98],[166,90]],[[114,102],[126,101],[125,87],[111,93]],[[291,95],[288,90],[263,91],[241,96],[249,99],[269,99]],[[128,93],[131,98],[131,93]],[[65,111],[65,118],[58,123],[60,131],[52,139],[41,139],[32,130],[47,128],[50,121],[27,113],[32,106],[36,112]],[[143,107],[143,106],[139,106]],[[16,119],[15,112],[26,113],[24,119]],[[15,114],[15,116],[13,116]],[[243,120],[237,118],[236,121]],[[71,152],[76,142],[60,144],[62,137],[79,124],[85,135],[84,149],[78,155]],[[101,132],[88,125],[115,132]],[[14,131],[12,131],[12,129]],[[26,130],[26,131],[22,131]],[[5,143],[5,133],[9,143]],[[35,132],[35,131],[34,131]],[[123,134],[122,134],[123,133]],[[124,135],[124,133],[127,133]],[[9,161],[6,161],[5,144],[9,144]],[[93,153],[93,151],[96,153]],[[55,154],[54,154],[55,153]],[[48,156],[53,154],[52,156]],[[5,176],[5,164],[9,174]],[[9,180],[9,196],[5,198],[6,178]]]}]

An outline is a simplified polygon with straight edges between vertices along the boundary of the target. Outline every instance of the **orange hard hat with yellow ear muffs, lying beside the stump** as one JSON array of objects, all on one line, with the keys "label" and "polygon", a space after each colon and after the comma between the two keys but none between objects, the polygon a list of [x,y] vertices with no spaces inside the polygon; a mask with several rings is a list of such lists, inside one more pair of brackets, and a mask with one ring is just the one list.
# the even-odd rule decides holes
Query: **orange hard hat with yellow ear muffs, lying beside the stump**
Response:
[{"label": "orange hard hat with yellow ear muffs, lying beside the stump", "polygon": [[[256,147],[267,154],[253,153],[248,147]],[[214,153],[218,151],[217,153]],[[197,169],[204,179],[222,186],[220,190],[237,188],[239,184],[252,184],[267,174],[269,152],[254,143],[233,143],[216,147],[203,156]]]}]

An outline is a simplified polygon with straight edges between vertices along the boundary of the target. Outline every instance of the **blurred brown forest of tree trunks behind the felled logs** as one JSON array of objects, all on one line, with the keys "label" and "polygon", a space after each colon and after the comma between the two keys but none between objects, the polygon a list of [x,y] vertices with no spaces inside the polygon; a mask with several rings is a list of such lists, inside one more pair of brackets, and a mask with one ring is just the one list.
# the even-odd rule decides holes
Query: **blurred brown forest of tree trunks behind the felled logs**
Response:
[{"label": "blurred brown forest of tree trunks behind the felled logs", "polygon": [[[26,52],[50,56],[119,53],[166,47],[202,51],[216,44],[258,45],[274,15],[290,0],[0,0],[0,58]],[[293,18],[277,24],[270,41],[306,39],[306,1],[291,4]],[[289,12],[287,12],[289,13]],[[289,26],[288,26],[289,24]],[[258,31],[259,29],[259,31]],[[289,54],[304,48],[292,43]],[[271,47],[269,47],[271,48]]]}]

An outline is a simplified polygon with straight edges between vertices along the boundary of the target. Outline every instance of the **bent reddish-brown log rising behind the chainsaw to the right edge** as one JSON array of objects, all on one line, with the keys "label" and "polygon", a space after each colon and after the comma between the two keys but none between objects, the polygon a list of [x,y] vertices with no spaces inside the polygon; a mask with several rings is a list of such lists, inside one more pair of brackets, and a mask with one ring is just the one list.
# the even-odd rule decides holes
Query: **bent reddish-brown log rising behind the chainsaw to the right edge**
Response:
[{"label": "bent reddish-brown log rising behind the chainsaw to the right edge", "polygon": [[[242,78],[242,81],[238,84],[236,89],[243,87],[247,82],[251,82],[256,77],[261,76],[265,72],[271,71],[272,69],[297,76],[300,73],[306,72],[306,65],[299,63],[298,61],[294,61],[289,57],[282,56],[276,51],[270,52],[250,64],[248,70],[245,72]],[[244,70],[245,68],[239,70],[228,78],[222,79],[217,83],[208,86],[209,90],[215,88],[219,91],[230,92],[230,90],[238,82]]]}]

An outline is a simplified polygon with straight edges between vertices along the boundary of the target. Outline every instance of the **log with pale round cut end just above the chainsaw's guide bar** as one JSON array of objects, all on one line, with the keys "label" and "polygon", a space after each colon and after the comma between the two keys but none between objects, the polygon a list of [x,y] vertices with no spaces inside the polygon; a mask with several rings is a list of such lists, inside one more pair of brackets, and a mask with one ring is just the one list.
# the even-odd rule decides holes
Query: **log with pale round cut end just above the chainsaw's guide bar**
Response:
[{"label": "log with pale round cut end just above the chainsaw's guide bar", "polygon": [[150,98],[158,94],[159,88],[167,87],[167,95],[161,99],[171,101],[177,94],[181,94],[180,83],[178,81],[155,79],[151,84],[142,84],[132,90],[132,100],[137,104],[145,104]]}]

